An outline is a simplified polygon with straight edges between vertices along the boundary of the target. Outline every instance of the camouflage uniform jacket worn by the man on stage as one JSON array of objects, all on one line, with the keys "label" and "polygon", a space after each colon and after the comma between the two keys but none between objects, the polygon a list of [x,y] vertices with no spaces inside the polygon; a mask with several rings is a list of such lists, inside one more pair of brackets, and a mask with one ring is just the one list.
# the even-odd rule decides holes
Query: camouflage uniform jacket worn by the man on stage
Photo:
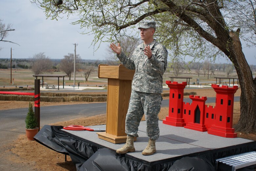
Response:
[{"label": "camouflage uniform jacket worn by the man on stage", "polygon": [[128,69],[135,69],[132,89],[145,93],[162,93],[163,73],[167,66],[167,50],[155,40],[149,44],[152,58],[144,55],[144,43],[135,48],[131,58],[121,52],[117,57]]}]

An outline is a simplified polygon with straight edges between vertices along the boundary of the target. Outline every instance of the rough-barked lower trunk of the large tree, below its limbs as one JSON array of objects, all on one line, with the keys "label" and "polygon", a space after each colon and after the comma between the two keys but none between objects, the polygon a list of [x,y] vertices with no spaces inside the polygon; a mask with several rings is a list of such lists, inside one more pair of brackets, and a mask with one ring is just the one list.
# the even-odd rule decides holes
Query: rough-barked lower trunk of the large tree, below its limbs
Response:
[{"label": "rough-barked lower trunk of the large tree, below its limbs", "polygon": [[256,132],[256,84],[252,72],[242,51],[238,32],[230,32],[233,40],[230,46],[229,59],[234,64],[241,86],[240,119],[234,128],[241,132]]}]

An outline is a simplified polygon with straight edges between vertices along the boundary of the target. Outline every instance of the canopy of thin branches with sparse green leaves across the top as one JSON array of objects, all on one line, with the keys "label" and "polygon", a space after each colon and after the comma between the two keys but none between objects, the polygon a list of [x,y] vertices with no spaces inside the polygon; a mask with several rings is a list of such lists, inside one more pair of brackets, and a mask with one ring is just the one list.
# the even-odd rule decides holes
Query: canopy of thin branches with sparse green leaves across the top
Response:
[{"label": "canopy of thin branches with sparse green leaves across the top", "polygon": [[138,38],[135,32],[142,20],[157,22],[155,38],[171,58],[223,56],[228,31],[235,27],[243,28],[240,37],[247,42],[255,45],[256,40],[255,10],[248,10],[256,4],[246,0],[64,0],[59,6],[56,0],[32,2],[51,19],[76,15],[78,19],[72,24],[80,25],[82,34],[95,35],[91,45],[96,50],[101,42],[112,42],[116,37]]}]

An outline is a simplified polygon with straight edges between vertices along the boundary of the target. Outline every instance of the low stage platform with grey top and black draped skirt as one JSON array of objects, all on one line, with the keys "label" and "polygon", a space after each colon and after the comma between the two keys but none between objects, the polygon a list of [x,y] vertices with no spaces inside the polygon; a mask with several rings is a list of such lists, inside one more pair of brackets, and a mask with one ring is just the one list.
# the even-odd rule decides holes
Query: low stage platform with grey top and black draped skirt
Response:
[{"label": "low stage platform with grey top and black draped skirt", "polygon": [[[215,160],[218,158],[256,150],[256,142],[252,140],[219,137],[207,132],[162,124],[162,121],[159,121],[160,137],[156,141],[157,152],[151,156],[143,156],[141,152],[148,143],[145,124],[145,121],[140,122],[139,137],[134,142],[136,151],[124,155],[115,153],[124,143],[114,144],[101,140],[98,138],[96,131],[70,131],[60,129],[59,126],[45,125],[34,138],[55,151],[70,155],[73,162],[76,163],[77,170],[87,170],[86,167],[91,167],[89,166],[90,163],[83,164],[83,162],[101,148],[110,149],[108,151],[111,153],[107,154],[106,159],[104,159],[106,151],[101,152],[101,161],[108,161],[111,158],[110,156],[114,155],[122,168],[127,166],[128,170],[171,170],[173,163],[184,157],[198,157],[203,159],[206,165],[208,164],[207,167],[216,169]],[[105,128],[105,126],[90,127]],[[97,161],[95,158],[93,159]],[[99,163],[93,163],[93,165],[100,167]],[[117,166],[113,165],[113,167]],[[127,168],[124,170],[127,170]]]}]

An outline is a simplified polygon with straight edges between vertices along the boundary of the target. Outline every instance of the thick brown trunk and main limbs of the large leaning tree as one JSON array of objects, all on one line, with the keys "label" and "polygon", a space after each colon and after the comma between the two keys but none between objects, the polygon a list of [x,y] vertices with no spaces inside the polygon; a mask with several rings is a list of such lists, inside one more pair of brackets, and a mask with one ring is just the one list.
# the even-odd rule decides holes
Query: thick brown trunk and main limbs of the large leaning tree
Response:
[{"label": "thick brown trunk and main limbs of the large leaning tree", "polygon": [[181,8],[171,0],[161,0],[169,10],[177,17],[186,22],[189,27],[193,28],[205,40],[211,42],[214,46],[223,51],[230,61],[234,64],[238,79],[241,86],[240,110],[241,115],[238,123],[234,126],[236,131],[256,132],[256,83],[254,83],[250,67],[242,51],[239,32],[228,31],[226,23],[219,10],[217,1],[207,0],[207,10],[201,17],[209,27],[214,30],[216,36],[206,32],[195,20],[187,15]]}]

